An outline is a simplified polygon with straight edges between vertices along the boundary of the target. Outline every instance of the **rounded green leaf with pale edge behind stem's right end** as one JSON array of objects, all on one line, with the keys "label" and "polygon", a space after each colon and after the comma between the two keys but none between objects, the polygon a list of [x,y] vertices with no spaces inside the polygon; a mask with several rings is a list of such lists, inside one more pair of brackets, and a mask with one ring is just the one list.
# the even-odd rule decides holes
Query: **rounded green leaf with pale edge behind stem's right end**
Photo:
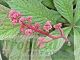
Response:
[{"label": "rounded green leaf with pale edge behind stem's right end", "polygon": [[[66,36],[68,36],[70,31],[71,31],[70,27],[64,28],[64,32],[65,32]],[[54,31],[52,33],[57,34],[56,31]],[[46,37],[46,39],[49,40],[50,38]],[[59,51],[60,48],[63,46],[63,44],[64,44],[64,39],[62,39],[62,38],[57,39],[57,40],[53,40],[52,42],[49,42],[49,43],[46,43],[45,48],[40,49],[40,54],[43,56],[52,55],[52,54],[56,53],[57,51]]]}]

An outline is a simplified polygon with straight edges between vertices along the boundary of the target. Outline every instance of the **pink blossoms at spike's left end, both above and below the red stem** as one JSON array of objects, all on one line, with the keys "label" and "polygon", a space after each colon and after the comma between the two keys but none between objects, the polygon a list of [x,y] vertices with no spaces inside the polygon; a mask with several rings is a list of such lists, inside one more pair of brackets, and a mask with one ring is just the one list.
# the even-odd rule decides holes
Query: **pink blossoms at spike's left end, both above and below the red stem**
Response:
[{"label": "pink blossoms at spike's left end, both above and below the red stem", "polygon": [[32,16],[28,16],[26,18],[26,17],[23,17],[20,12],[17,12],[16,10],[10,10],[9,18],[10,18],[11,22],[13,23],[13,25],[16,25],[17,23],[20,24],[20,31],[24,32],[25,35],[31,35],[32,34],[32,32],[33,32],[32,29],[26,29],[25,30],[25,27],[23,25],[23,23],[25,21],[28,21],[28,23],[31,23],[32,22]]}]

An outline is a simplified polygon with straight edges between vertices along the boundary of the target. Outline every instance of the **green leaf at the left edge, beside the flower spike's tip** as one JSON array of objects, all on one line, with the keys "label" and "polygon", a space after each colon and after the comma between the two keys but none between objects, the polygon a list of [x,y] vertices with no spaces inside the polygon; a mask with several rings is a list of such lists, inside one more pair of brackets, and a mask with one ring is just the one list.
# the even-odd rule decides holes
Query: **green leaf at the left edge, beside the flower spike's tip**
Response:
[{"label": "green leaf at the left edge, beside the flower spike's tip", "polygon": [[0,40],[13,38],[19,33],[19,27],[11,24],[8,12],[9,9],[0,4]]}]

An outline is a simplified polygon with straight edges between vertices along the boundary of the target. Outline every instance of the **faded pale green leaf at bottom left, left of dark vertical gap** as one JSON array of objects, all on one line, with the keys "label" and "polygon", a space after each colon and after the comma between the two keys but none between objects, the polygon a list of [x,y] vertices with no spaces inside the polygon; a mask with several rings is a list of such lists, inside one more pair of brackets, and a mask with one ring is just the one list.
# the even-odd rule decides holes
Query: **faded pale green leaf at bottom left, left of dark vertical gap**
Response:
[{"label": "faded pale green leaf at bottom left, left of dark vertical gap", "polygon": [[3,52],[9,60],[26,60],[29,58],[29,40],[18,36],[12,40],[4,40]]}]

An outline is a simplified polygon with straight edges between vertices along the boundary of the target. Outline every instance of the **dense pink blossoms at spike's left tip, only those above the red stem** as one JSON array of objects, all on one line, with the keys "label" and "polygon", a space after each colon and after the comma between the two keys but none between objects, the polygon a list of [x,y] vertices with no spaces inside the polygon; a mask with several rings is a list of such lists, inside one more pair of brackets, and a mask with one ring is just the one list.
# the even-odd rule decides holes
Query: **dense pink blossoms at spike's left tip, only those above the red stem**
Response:
[{"label": "dense pink blossoms at spike's left tip, only those above the red stem", "polygon": [[28,16],[27,18],[23,17],[21,15],[21,13],[17,12],[16,10],[10,10],[10,12],[9,12],[9,18],[11,19],[11,22],[14,25],[16,25],[16,23],[22,24],[22,22],[24,22],[26,20],[28,22],[32,22],[32,16]]}]

